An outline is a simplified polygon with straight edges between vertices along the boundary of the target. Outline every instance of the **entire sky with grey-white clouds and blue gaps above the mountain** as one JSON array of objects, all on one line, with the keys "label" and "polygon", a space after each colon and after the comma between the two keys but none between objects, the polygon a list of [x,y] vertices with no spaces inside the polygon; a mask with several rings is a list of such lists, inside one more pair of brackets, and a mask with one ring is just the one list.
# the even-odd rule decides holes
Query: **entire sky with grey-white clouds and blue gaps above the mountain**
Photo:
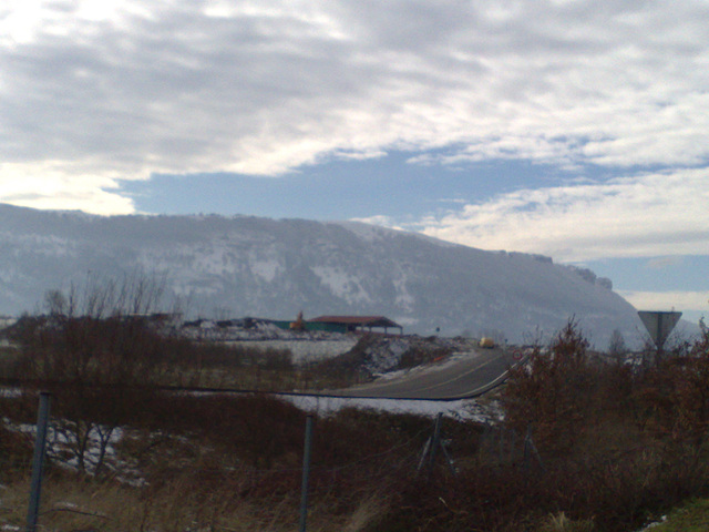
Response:
[{"label": "entire sky with grey-white clouds and blue gaps above the mountain", "polygon": [[6,0],[0,202],[362,219],[709,315],[709,3]]}]

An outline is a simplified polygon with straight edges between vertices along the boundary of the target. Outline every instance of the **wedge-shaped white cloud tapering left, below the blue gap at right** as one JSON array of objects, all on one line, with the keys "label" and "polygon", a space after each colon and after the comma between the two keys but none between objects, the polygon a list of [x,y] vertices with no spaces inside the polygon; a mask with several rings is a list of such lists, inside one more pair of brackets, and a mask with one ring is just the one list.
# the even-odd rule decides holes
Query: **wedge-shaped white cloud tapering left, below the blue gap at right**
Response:
[{"label": "wedge-shaped white cloud tapering left, below the blue gap at right", "polygon": [[516,191],[424,219],[419,228],[473,247],[558,260],[709,255],[709,170]]}]

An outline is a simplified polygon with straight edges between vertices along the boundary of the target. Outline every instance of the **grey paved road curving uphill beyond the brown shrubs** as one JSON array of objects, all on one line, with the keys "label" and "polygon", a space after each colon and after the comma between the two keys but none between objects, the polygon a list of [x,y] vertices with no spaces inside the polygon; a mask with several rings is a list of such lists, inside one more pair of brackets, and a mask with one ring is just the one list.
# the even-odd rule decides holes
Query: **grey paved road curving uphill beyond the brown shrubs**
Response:
[{"label": "grey paved road curving uphill beyond the brown shrubs", "polygon": [[414,369],[399,378],[380,379],[326,393],[392,399],[462,399],[480,396],[500,383],[512,364],[514,360],[510,352],[502,349],[480,349],[424,370]]}]

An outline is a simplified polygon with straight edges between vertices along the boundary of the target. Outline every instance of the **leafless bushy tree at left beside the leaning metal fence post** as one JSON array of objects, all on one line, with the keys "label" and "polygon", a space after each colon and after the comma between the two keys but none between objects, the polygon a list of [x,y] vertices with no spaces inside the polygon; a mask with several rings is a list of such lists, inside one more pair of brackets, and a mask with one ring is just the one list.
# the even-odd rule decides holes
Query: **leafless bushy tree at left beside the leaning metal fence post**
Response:
[{"label": "leafless bushy tree at left beside the leaning metal fence post", "polygon": [[18,328],[27,386],[54,393],[53,433],[80,471],[102,472],[115,429],[171,378],[174,349],[154,319],[163,293],[160,279],[92,277],[48,291],[49,314]]}]

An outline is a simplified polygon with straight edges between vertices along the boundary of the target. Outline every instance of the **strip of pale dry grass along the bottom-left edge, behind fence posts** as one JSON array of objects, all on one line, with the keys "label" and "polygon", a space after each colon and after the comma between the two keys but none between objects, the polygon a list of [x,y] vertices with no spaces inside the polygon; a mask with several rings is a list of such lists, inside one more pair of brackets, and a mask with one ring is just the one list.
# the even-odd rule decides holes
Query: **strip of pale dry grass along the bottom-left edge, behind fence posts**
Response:
[{"label": "strip of pale dry grass along the bottom-left edge, behind fence posts", "polygon": [[[24,528],[28,493],[27,481],[3,487],[0,528]],[[185,480],[152,490],[54,477],[43,487],[39,530],[290,532],[297,529],[298,504],[297,493],[245,501],[228,490],[204,493]],[[327,505],[316,504],[309,510],[308,531],[362,532],[381,511],[373,497],[348,515],[332,514]]]}]

